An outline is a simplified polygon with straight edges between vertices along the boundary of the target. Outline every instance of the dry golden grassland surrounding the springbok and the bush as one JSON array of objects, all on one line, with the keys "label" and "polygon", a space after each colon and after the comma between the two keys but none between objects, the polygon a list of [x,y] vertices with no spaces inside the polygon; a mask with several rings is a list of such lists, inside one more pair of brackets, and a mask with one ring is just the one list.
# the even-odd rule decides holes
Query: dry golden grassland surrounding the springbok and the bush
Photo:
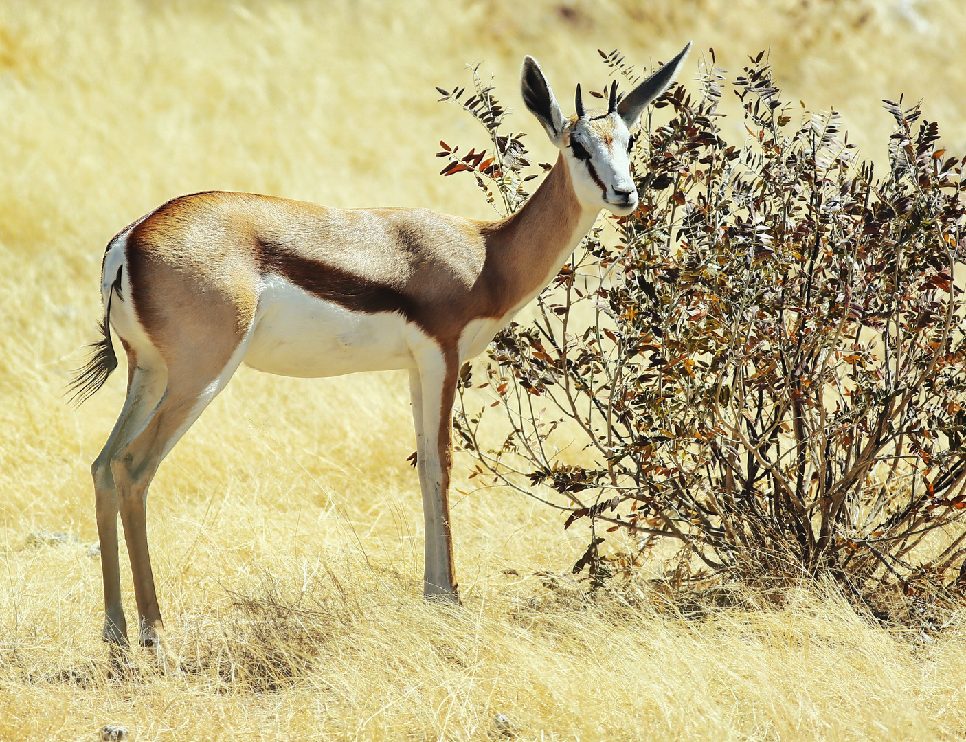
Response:
[{"label": "dry golden grassland surrounding the springbok and the bush", "polygon": [[[139,671],[109,676],[88,470],[125,375],[79,411],[61,388],[110,237],[206,188],[486,216],[469,180],[436,174],[440,138],[482,142],[434,85],[484,59],[519,108],[532,53],[568,101],[604,82],[597,47],[646,62],[691,38],[732,74],[770,45],[789,99],[837,105],[868,157],[890,132],[878,100],[903,91],[966,151],[957,0],[0,4],[0,739],[107,722],[140,741],[489,739],[497,713],[541,740],[963,738],[955,625],[873,628],[821,586],[703,614],[642,581],[587,602],[567,574],[586,533],[499,490],[454,499],[465,608],[425,605],[399,373],[241,370],[152,488],[185,670],[135,650]],[[527,116],[514,127],[551,157]]]}]

